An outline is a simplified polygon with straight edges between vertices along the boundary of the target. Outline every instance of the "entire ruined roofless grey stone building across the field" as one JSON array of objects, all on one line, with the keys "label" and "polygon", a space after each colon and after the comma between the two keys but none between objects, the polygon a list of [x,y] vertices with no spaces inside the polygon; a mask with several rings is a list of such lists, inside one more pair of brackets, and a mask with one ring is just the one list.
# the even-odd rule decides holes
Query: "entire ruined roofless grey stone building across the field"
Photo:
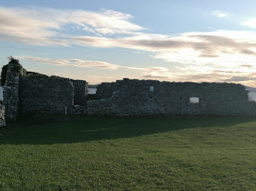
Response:
[{"label": "entire ruined roofless grey stone building across the field", "polygon": [[[123,79],[102,83],[96,96],[87,82],[26,71],[12,59],[6,68],[5,115],[256,115],[245,86]],[[192,99],[197,100],[192,102]]]}]

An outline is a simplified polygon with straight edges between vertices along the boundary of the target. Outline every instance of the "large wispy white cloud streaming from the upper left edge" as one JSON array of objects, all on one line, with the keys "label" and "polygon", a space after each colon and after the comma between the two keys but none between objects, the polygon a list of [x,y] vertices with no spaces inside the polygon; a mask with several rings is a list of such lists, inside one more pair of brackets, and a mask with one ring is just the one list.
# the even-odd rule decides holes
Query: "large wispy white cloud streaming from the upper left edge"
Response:
[{"label": "large wispy white cloud streaming from the upper left edge", "polygon": [[32,46],[69,46],[66,28],[93,34],[129,34],[144,29],[130,22],[131,18],[111,10],[0,7],[0,40]]}]

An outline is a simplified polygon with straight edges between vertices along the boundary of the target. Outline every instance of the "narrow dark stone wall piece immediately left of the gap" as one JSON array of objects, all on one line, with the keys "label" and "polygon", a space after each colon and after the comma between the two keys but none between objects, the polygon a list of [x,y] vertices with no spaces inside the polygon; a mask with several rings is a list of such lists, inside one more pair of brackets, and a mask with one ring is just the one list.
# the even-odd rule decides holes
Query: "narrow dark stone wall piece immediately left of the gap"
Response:
[{"label": "narrow dark stone wall piece immediately left of the gap", "polygon": [[74,84],[74,105],[86,105],[88,95],[88,84],[84,80],[73,80]]}]

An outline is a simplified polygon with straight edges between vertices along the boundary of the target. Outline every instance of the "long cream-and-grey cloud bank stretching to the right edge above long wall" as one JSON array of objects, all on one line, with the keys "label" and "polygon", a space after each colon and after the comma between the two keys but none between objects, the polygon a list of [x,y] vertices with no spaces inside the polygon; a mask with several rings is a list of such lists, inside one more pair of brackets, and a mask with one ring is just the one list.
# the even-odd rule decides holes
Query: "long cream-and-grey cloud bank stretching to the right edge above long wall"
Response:
[{"label": "long cream-and-grey cloud bank stretching to the right edge above long wall", "polygon": [[256,61],[256,32],[191,32],[176,36],[136,33],[120,38],[76,36],[72,39],[81,46],[143,50],[174,63],[239,66]]}]

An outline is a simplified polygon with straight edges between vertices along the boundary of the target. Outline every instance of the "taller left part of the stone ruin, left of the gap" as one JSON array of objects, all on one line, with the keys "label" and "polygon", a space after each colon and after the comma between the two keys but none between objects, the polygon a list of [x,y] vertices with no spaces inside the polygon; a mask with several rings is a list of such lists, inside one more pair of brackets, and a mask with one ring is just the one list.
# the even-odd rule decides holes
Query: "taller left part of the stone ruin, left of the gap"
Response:
[{"label": "taller left part of the stone ruin, left of the gap", "polygon": [[[73,114],[74,96],[77,100],[86,99],[87,83],[78,81],[30,73],[18,60],[11,60],[4,86],[6,119],[16,120],[18,115],[64,115],[66,111]],[[74,83],[85,88],[74,92]]]}]

